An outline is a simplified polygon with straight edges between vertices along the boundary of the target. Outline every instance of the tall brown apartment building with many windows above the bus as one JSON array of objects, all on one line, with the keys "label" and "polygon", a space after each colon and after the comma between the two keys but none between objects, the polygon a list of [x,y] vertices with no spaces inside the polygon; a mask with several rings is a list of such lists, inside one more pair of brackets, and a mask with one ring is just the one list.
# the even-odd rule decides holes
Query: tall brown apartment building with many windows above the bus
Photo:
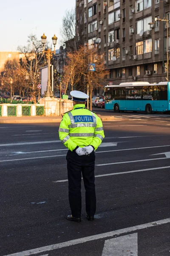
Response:
[{"label": "tall brown apartment building with many windows above the bus", "polygon": [[106,84],[166,80],[170,36],[166,22],[155,18],[170,20],[170,0],[77,0],[76,14],[79,43],[96,47],[101,39],[97,46],[110,70]]}]

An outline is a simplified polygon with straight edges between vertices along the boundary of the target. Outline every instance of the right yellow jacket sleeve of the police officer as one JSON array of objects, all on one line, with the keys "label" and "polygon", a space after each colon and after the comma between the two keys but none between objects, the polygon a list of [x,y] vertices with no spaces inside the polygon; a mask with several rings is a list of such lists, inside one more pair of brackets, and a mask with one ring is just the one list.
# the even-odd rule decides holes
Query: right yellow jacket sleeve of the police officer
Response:
[{"label": "right yellow jacket sleeve of the police officer", "polygon": [[90,145],[92,145],[96,150],[99,147],[99,145],[102,143],[102,140],[105,138],[105,134],[103,131],[102,120],[99,118],[99,116],[97,115],[95,116],[96,116],[96,128],[94,130],[94,138]]}]

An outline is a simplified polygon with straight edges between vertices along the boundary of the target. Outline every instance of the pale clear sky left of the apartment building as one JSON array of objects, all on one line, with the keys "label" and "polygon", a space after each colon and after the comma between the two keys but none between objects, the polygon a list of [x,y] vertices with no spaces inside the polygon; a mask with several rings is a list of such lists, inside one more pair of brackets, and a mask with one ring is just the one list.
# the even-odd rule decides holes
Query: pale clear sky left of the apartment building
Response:
[{"label": "pale clear sky left of the apartment building", "polygon": [[43,33],[52,44],[57,36],[59,49],[62,17],[65,11],[75,7],[76,0],[2,0],[0,3],[0,51],[17,51],[27,44],[28,35]]}]

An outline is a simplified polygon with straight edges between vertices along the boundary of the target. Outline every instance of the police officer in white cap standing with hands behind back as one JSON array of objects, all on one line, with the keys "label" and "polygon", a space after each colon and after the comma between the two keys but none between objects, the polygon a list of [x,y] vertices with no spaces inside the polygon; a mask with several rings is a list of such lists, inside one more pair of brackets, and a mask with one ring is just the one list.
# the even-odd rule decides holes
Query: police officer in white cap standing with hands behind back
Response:
[{"label": "police officer in white cap standing with hands behind back", "polygon": [[59,139],[68,148],[68,196],[71,207],[70,221],[81,221],[81,173],[85,186],[86,218],[94,220],[96,212],[96,192],[94,185],[95,150],[104,139],[101,119],[85,109],[88,95],[71,91],[73,110],[64,114],[59,126]]}]

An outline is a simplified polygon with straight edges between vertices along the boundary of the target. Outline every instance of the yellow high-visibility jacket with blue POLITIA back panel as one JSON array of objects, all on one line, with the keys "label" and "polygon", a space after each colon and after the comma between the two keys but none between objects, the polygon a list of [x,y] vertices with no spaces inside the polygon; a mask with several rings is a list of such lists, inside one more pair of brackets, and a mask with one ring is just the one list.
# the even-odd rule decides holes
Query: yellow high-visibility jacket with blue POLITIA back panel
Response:
[{"label": "yellow high-visibility jacket with blue POLITIA back panel", "polygon": [[101,119],[85,109],[84,104],[74,105],[74,109],[65,113],[59,125],[59,139],[71,151],[88,145],[96,150],[104,137]]}]

